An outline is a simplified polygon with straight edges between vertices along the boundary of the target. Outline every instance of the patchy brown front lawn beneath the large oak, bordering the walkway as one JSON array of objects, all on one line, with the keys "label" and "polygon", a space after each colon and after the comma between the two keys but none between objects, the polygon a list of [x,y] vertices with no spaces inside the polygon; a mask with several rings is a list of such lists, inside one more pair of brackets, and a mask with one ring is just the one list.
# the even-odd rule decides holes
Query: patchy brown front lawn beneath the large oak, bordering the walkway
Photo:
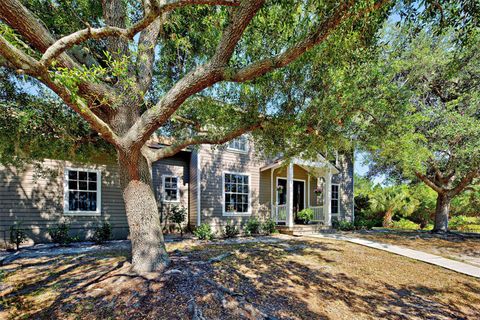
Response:
[{"label": "patchy brown front lawn beneath the large oak, bordering the walkway", "polygon": [[333,240],[169,244],[161,276],[128,272],[122,251],[2,267],[0,318],[451,319],[480,317],[480,283]]}]

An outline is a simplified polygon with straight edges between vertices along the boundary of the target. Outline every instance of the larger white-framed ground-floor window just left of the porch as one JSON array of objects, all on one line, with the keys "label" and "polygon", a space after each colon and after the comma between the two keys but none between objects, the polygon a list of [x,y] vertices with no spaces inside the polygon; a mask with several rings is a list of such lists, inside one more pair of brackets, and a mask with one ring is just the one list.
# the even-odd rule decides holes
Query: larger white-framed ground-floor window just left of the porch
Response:
[{"label": "larger white-framed ground-floor window just left of the porch", "polygon": [[250,213],[250,177],[239,173],[224,173],[223,195],[225,214]]}]

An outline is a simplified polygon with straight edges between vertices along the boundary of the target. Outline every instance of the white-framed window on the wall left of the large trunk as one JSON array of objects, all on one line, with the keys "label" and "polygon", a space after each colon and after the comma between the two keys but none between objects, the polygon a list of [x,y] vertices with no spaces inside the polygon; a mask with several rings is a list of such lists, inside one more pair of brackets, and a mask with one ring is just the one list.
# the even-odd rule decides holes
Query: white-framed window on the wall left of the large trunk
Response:
[{"label": "white-framed window on the wall left of the large trunk", "polygon": [[65,169],[64,212],[100,214],[100,171]]}]

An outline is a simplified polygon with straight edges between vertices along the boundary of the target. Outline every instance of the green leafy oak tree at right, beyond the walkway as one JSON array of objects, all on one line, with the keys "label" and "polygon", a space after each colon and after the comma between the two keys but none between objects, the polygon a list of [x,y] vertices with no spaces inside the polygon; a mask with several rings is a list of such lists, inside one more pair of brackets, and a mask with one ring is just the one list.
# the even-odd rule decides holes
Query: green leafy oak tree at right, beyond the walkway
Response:
[{"label": "green leafy oak tree at right, beyond the walkway", "polygon": [[374,97],[361,133],[371,173],[425,183],[437,193],[433,231],[447,232],[452,199],[480,183],[478,28],[467,38],[387,30],[382,55],[363,70]]}]

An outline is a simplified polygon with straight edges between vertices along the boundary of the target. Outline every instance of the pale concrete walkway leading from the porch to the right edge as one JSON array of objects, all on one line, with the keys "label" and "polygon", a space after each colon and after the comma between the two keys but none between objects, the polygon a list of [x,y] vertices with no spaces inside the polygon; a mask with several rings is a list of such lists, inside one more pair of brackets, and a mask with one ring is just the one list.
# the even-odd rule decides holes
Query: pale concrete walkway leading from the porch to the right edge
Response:
[{"label": "pale concrete walkway leading from the porch to the right edge", "polygon": [[309,234],[309,235],[303,235],[303,236],[348,241],[348,242],[360,244],[362,246],[367,246],[374,249],[388,251],[391,253],[398,254],[400,256],[434,264],[436,266],[453,270],[458,273],[463,273],[472,277],[480,278],[479,267],[475,267],[470,264],[455,261],[452,259],[443,258],[434,254],[423,252],[423,251],[412,250],[405,247],[395,246],[395,245],[386,244],[386,243],[379,243],[379,242],[374,242],[374,241],[365,240],[365,239],[347,237],[340,234]]}]

